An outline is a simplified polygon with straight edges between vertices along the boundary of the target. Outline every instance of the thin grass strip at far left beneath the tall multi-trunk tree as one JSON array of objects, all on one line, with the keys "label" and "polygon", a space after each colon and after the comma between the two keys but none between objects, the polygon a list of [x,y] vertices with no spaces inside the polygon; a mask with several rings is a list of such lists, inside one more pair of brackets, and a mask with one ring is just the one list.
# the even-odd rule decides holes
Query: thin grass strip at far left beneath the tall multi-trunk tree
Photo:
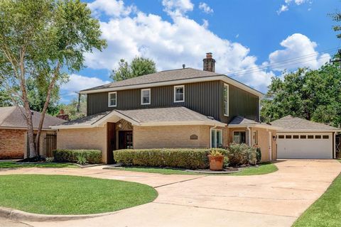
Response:
[{"label": "thin grass strip at far left beneath the tall multi-trunk tree", "polygon": [[77,165],[69,163],[55,163],[55,162],[43,162],[43,163],[18,163],[18,162],[0,162],[1,168],[32,168],[32,167],[50,167],[50,168],[77,168]]}]

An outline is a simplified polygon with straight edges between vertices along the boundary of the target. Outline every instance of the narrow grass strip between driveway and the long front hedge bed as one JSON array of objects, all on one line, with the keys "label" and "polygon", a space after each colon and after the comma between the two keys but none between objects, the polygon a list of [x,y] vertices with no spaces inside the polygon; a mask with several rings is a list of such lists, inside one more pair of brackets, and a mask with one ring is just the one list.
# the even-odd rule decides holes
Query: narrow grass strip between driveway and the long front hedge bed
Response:
[{"label": "narrow grass strip between driveway and the long front hedge bed", "polygon": [[[150,173],[159,173],[162,175],[205,175],[199,174],[196,172],[188,172],[185,170],[174,170],[168,168],[156,168],[156,167],[121,167],[116,170],[125,170],[125,171],[134,171],[134,172],[150,172]],[[265,175],[271,172],[276,172],[278,168],[276,165],[265,162],[261,163],[259,167],[248,167],[244,168],[240,172],[230,173],[227,175],[234,176],[246,176],[246,175]]]}]

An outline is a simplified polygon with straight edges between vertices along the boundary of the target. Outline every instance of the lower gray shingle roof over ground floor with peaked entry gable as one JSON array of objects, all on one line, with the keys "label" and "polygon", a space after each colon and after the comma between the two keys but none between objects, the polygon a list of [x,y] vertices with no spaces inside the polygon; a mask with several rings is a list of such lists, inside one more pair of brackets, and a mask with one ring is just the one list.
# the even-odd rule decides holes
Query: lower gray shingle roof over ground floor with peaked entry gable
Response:
[{"label": "lower gray shingle roof over ground floor with peaked entry gable", "polygon": [[92,116],[85,116],[84,118],[77,119],[75,121],[67,121],[61,123],[60,126],[92,126],[95,125],[102,118],[109,114],[119,114],[124,116],[127,121],[141,123],[188,123],[190,121],[200,122],[202,124],[212,123],[222,124],[220,121],[216,121],[210,117],[199,114],[195,111],[187,109],[183,106],[165,107],[165,108],[152,108],[152,109],[131,109],[131,110],[113,110],[107,111],[100,114],[94,114]]}]

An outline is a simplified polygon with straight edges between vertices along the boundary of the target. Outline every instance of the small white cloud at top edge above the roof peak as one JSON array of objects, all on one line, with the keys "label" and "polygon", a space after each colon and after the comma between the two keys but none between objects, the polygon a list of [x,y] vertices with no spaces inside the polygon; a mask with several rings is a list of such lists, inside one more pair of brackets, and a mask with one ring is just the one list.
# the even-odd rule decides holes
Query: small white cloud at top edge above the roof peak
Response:
[{"label": "small white cloud at top edge above the roof peak", "polygon": [[164,11],[170,16],[184,16],[188,11],[193,11],[190,0],[162,0]]}]

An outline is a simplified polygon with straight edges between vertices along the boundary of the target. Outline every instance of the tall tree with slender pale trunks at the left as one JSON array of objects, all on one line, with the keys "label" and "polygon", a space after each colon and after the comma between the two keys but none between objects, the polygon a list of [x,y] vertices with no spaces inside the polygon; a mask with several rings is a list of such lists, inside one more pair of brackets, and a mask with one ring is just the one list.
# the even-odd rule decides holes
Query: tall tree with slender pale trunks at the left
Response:
[{"label": "tall tree with slender pale trunks at the left", "polygon": [[[1,0],[0,17],[0,79],[12,101],[25,110],[30,157],[35,157],[55,85],[67,80],[65,70],[74,72],[84,67],[85,52],[102,50],[106,42],[100,38],[99,22],[79,0]],[[29,79],[48,84],[36,145]]]}]

